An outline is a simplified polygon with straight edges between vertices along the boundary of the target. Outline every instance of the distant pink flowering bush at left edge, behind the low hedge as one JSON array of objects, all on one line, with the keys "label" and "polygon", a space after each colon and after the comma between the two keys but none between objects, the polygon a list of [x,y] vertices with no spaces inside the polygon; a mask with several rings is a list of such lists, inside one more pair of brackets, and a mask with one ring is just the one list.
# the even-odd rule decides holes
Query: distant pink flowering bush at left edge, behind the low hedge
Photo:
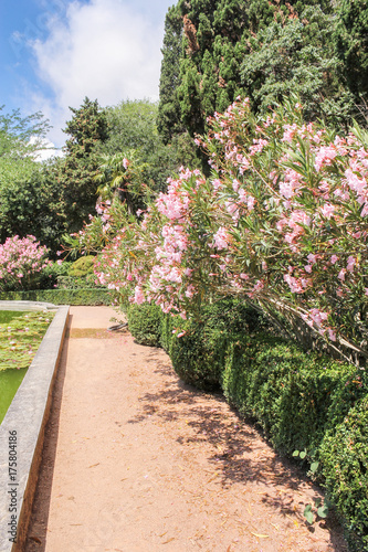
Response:
[{"label": "distant pink flowering bush at left edge, behind the low hedge", "polygon": [[46,254],[48,247],[34,236],[8,237],[0,244],[0,290],[34,288],[41,270],[51,264]]}]

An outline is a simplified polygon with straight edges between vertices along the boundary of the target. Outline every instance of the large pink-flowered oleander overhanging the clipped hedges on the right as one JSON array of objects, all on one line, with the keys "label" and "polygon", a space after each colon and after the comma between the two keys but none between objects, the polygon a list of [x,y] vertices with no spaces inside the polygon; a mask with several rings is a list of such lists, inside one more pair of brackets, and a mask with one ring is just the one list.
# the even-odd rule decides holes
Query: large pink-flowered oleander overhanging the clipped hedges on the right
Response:
[{"label": "large pink-flowered oleander overhanging the clipped hedges on the right", "polygon": [[182,318],[238,295],[367,355],[368,136],[305,123],[296,100],[261,119],[238,100],[209,128],[210,178],[182,168],[140,221],[120,213],[99,282]]}]

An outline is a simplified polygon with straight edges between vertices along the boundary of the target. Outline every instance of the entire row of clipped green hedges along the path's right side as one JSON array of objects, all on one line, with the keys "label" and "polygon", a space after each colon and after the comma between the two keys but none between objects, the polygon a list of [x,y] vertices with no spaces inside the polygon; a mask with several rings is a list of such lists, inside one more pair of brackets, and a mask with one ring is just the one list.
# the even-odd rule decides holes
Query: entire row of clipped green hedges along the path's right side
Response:
[{"label": "entire row of clipped green hedges along the path's right side", "polygon": [[368,550],[368,379],[365,371],[274,336],[253,309],[227,299],[180,323],[156,306],[132,306],[129,330],[161,346],[187,383],[222,389],[282,454],[306,450],[336,505],[351,550]]}]

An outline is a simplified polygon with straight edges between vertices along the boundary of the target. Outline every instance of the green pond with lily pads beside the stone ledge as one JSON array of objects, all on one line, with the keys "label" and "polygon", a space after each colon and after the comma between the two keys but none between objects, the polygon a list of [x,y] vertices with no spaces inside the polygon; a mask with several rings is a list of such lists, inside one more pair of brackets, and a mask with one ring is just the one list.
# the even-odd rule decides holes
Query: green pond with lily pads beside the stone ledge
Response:
[{"label": "green pond with lily pads beside the stone ledge", "polygon": [[0,310],[0,423],[54,312]]}]

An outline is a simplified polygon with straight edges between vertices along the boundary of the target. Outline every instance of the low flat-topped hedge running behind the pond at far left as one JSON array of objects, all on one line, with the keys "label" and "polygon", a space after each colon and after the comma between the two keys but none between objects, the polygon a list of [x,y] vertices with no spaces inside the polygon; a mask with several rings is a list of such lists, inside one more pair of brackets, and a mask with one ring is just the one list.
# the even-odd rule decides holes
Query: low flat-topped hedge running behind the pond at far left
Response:
[{"label": "low flat-topped hedge running behind the pond at far left", "polygon": [[43,301],[54,305],[111,305],[108,289],[36,289],[33,291],[1,293],[0,300]]}]

